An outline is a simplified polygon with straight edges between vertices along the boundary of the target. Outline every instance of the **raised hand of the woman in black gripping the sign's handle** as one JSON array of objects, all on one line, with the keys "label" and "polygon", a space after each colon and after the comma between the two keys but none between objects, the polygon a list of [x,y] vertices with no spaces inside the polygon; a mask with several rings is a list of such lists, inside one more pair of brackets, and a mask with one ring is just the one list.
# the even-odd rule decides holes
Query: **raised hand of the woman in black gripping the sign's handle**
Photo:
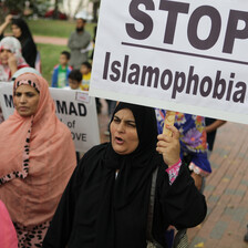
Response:
[{"label": "raised hand of the woman in black gripping the sign's handle", "polygon": [[166,128],[172,131],[172,137],[159,134],[156,151],[163,155],[165,164],[170,167],[180,158],[179,131],[175,126],[167,126]]}]

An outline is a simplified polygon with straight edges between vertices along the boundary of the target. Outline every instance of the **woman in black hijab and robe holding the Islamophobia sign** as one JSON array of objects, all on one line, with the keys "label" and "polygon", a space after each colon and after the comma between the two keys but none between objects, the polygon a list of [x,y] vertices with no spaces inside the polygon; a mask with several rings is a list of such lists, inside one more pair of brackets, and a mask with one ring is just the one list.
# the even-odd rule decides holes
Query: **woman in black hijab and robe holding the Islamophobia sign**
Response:
[{"label": "woman in black hijab and robe holding the Islamophobia sign", "polygon": [[159,135],[157,143],[154,108],[120,103],[110,124],[111,142],[93,147],[81,159],[43,248],[145,248],[152,176],[157,167],[154,239],[167,247],[169,225],[186,228],[202,223],[205,197],[187,168],[180,165],[172,185],[165,172],[179,161],[179,134],[170,130],[173,137]]}]

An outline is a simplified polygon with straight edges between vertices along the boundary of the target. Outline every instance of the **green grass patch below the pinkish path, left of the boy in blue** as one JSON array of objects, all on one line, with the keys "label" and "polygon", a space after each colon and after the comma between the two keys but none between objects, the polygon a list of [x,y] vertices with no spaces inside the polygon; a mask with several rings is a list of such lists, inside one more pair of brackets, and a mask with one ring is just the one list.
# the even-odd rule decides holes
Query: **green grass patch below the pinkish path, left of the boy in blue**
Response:
[{"label": "green grass patch below the pinkish path, left of the boy in blue", "polygon": [[43,78],[51,85],[52,70],[55,64],[59,63],[60,53],[63,50],[69,51],[66,45],[54,45],[54,44],[37,44],[38,50],[41,54],[41,70]]}]

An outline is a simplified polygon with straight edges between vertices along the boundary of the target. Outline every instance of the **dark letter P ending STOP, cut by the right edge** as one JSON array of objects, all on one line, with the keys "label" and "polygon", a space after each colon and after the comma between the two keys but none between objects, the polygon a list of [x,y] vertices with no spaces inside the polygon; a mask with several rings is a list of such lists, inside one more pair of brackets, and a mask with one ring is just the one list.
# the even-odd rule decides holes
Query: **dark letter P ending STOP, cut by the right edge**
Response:
[{"label": "dark letter P ending STOP, cut by the right edge", "polygon": [[[245,22],[245,28],[242,30],[237,29],[239,20]],[[223,52],[232,53],[235,39],[247,39],[247,38],[248,38],[248,12],[230,10]]]}]

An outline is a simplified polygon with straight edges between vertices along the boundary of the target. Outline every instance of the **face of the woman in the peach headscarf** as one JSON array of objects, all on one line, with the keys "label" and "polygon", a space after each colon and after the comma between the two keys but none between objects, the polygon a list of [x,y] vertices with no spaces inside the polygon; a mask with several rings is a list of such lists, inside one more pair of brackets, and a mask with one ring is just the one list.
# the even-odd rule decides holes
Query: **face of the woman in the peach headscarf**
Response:
[{"label": "face of the woman in the peach headscarf", "polygon": [[17,112],[28,117],[37,112],[40,94],[30,85],[20,85],[14,93],[13,102]]}]

